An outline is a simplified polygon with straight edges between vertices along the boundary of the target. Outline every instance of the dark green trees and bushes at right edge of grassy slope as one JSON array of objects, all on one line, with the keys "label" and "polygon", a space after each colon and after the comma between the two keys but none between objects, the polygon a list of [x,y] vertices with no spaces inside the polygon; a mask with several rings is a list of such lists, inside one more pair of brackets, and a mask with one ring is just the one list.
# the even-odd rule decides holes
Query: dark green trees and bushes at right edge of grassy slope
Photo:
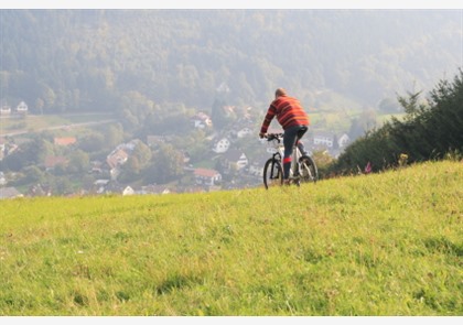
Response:
[{"label": "dark green trees and bushes at right edge of grassy slope", "polygon": [[368,131],[346,148],[330,166],[331,173],[373,172],[405,163],[463,155],[463,72],[453,80],[442,79],[420,100],[421,93],[409,93],[398,101],[406,111],[403,120],[392,118],[381,128]]}]

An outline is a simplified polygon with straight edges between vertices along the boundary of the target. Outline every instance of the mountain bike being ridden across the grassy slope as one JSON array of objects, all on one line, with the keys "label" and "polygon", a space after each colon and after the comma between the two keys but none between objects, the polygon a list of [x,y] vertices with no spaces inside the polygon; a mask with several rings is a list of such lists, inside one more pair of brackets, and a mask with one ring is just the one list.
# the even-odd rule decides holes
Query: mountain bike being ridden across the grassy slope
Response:
[{"label": "mountain bike being ridden across the grassy slope", "polygon": [[[268,133],[265,136],[270,148],[272,149],[272,156],[267,160],[263,166],[263,185],[268,189],[272,186],[283,185],[283,164],[282,158],[284,155],[283,133]],[[315,183],[319,180],[319,170],[315,161],[308,154],[302,154],[297,145],[300,137],[298,136],[292,150],[291,169],[289,181],[290,184],[298,186],[301,183]]]}]

